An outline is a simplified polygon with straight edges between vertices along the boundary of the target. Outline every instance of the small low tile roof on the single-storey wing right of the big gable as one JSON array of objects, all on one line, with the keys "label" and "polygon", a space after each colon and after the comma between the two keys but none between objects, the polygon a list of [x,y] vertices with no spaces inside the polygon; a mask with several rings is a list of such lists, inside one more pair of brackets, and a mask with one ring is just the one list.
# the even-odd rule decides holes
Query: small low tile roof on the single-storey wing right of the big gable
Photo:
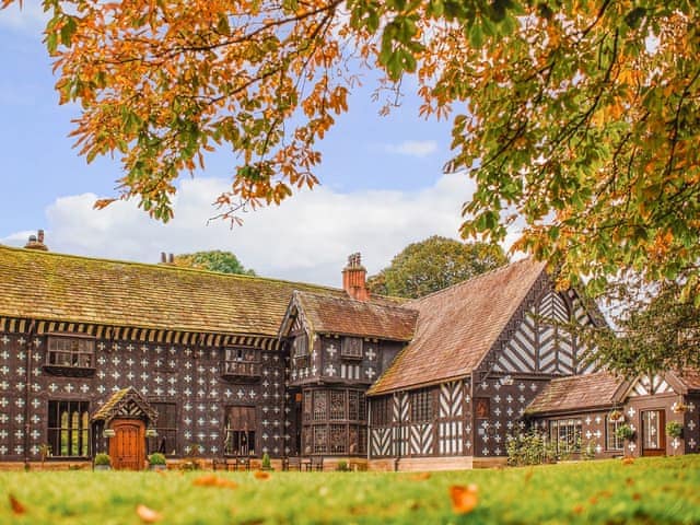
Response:
[{"label": "small low tile roof on the single-storey wing right of the big gable", "polygon": [[622,378],[605,371],[552,380],[533,399],[525,413],[607,408],[615,402],[615,394],[622,383]]}]

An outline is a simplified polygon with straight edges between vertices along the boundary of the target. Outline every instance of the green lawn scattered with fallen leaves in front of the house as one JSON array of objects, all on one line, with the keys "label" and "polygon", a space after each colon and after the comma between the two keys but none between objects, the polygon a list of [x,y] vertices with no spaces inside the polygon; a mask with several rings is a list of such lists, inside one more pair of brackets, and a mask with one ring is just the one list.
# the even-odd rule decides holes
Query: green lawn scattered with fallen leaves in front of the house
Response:
[{"label": "green lawn scattered with fallen leaves in front of the house", "polygon": [[[163,524],[698,524],[700,456],[413,474],[217,472],[235,489],[198,487],[209,472],[0,472],[0,523],[138,525],[138,504]],[[479,503],[455,514],[453,485]],[[14,514],[12,494],[26,509]]]}]

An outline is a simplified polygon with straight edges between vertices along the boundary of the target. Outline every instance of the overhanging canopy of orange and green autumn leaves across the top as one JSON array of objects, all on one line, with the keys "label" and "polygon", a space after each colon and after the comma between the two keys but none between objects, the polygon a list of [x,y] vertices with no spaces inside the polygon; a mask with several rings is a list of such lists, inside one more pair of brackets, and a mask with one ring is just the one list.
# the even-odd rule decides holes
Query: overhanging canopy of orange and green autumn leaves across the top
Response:
[{"label": "overhanging canopy of orange and green autumn leaves across the top", "polygon": [[[21,0],[1,0],[10,4]],[[691,0],[43,0],[81,152],[120,155],[121,197],[172,215],[174,182],[215,147],[218,203],[317,183],[317,142],[362,69],[412,75],[453,119],[451,171],[477,189],[462,233],[561,267],[649,280],[700,256],[700,7]],[[97,206],[106,206],[109,199]]]}]

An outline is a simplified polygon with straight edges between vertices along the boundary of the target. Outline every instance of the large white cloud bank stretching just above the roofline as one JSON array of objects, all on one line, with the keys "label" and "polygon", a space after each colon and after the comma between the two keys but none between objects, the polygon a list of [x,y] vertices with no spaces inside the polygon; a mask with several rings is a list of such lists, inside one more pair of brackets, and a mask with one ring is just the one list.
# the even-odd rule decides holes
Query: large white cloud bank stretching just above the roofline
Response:
[{"label": "large white cloud bank stretching just above the roofline", "polygon": [[[211,207],[229,187],[224,179],[184,180],[175,219],[161,224],[135,202],[94,210],[95,195],[61,197],[46,210],[46,243],[55,252],[156,262],[161,252],[226,249],[259,275],[340,285],[346,257],[361,252],[375,273],[408,243],[433,234],[456,237],[460,208],[474,185],[465,175],[445,175],[412,191],[341,194],[326,187],[303,191],[277,208],[243,214],[243,226],[214,220]],[[40,226],[40,225],[37,225]],[[0,240],[23,245],[28,232]]]}]

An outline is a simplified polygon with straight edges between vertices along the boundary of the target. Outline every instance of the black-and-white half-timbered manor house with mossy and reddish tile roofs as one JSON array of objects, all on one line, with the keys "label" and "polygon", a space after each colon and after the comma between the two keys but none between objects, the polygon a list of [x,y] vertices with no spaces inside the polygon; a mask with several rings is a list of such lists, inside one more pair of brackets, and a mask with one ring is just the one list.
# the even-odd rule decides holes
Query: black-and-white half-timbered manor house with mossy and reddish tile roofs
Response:
[{"label": "black-and-white half-timbered manor house with mossy and reddish tile roofs", "polygon": [[[405,301],[371,296],[354,254],[342,283],[0,246],[0,464],[48,450],[117,468],[155,451],[469,468],[533,424],[572,454],[697,451],[700,374],[595,370],[560,322],[599,316],[541,264]],[[621,443],[623,422],[637,436]]]}]

